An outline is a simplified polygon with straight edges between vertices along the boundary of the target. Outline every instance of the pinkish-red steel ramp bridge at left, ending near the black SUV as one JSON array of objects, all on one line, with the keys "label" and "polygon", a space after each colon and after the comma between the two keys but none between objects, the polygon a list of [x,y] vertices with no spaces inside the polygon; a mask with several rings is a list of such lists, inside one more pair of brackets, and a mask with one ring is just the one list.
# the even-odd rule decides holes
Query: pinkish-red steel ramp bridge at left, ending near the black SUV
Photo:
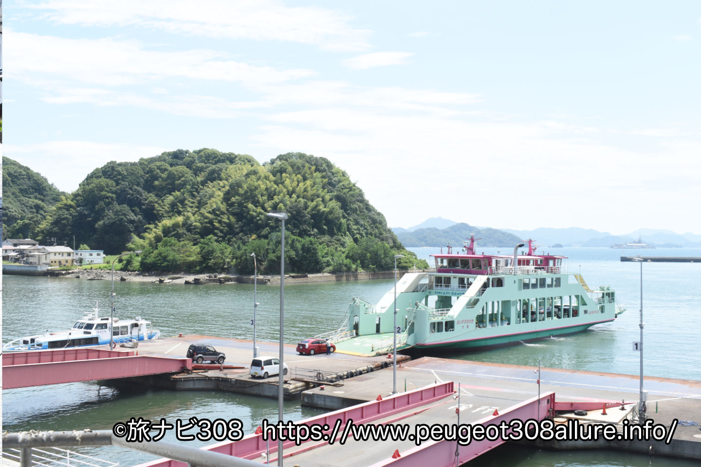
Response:
[{"label": "pinkish-red steel ramp bridge at left, ending near the black SUV", "polygon": [[62,349],[2,356],[3,389],[158,375],[192,369],[189,358],[139,356],[137,351]]}]

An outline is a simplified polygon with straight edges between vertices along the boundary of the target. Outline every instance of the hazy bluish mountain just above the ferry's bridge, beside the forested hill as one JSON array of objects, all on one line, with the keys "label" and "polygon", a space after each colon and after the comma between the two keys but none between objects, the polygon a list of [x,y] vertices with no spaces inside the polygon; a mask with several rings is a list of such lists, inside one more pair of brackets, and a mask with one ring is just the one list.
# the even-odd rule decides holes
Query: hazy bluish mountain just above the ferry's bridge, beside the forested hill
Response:
[{"label": "hazy bluish mountain just above the ferry's bridge, beside the forested hill", "polygon": [[520,241],[520,238],[516,235],[503,230],[493,228],[480,229],[466,223],[454,224],[444,229],[430,227],[418,229],[414,232],[395,233],[405,246],[447,246],[450,244],[459,249],[463,246],[463,241],[472,234],[475,234],[477,238],[481,238],[477,242],[478,248],[479,246],[515,246]]}]

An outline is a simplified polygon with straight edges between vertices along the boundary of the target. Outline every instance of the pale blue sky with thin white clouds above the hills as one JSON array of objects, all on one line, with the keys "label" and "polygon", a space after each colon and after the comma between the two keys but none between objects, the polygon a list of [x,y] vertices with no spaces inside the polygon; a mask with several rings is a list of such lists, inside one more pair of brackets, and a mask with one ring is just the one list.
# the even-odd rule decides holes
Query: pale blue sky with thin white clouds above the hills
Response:
[{"label": "pale blue sky with thin white clouds above the hills", "polygon": [[3,153],[324,157],[390,227],[701,233],[697,1],[15,1]]}]

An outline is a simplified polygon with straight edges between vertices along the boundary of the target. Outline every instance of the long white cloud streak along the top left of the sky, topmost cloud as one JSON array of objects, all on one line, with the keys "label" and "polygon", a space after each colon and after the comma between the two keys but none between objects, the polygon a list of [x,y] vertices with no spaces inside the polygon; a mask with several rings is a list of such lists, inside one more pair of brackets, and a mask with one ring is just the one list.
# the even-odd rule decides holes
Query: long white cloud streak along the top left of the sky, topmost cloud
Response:
[{"label": "long white cloud streak along the top left of the sky, topmost cloud", "polygon": [[367,29],[351,27],[346,13],[275,0],[47,0],[27,6],[61,25],[137,26],[175,34],[285,41],[323,50],[368,50]]}]

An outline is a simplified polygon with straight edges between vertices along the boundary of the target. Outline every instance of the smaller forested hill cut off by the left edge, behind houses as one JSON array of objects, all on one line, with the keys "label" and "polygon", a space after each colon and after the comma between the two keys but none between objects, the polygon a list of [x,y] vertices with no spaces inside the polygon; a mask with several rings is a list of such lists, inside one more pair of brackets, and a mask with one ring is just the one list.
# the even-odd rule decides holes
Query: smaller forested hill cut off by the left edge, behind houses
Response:
[{"label": "smaller forested hill cut off by the left edge, behind houses", "polygon": [[45,177],[15,160],[2,158],[3,234],[27,238],[60,200],[62,193]]}]

